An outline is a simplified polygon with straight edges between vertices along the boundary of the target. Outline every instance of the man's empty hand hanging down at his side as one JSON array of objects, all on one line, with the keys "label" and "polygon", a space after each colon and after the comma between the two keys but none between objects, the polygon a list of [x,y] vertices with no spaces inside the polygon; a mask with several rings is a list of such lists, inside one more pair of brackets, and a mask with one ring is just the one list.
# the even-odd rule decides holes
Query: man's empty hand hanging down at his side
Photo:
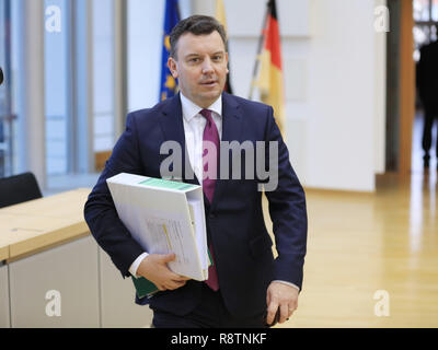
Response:
[{"label": "man's empty hand hanging down at his side", "polygon": [[298,289],[281,282],[272,282],[266,293],[267,317],[266,323],[274,322],[277,308],[280,308],[280,324],[289,318],[298,307]]}]

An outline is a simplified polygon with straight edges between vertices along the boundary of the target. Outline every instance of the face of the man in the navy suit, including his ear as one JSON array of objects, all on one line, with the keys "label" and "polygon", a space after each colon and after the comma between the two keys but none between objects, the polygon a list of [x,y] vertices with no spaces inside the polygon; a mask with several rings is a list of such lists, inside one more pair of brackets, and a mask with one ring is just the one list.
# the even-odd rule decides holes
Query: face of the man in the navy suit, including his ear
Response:
[{"label": "face of the man in the navy suit, including his ear", "polygon": [[228,54],[219,33],[183,34],[176,56],[177,60],[170,57],[168,65],[180,90],[199,107],[209,107],[222,93],[228,73]]}]

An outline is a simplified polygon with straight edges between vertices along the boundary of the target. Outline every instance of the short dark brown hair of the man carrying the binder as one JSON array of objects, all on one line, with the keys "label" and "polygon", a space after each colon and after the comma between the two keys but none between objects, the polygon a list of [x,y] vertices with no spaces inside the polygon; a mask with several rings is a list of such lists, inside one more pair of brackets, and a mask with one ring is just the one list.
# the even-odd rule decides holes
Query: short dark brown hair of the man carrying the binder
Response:
[{"label": "short dark brown hair of the man carrying the binder", "polygon": [[174,59],[176,57],[176,45],[180,37],[185,33],[192,33],[194,35],[208,35],[217,31],[222,38],[223,45],[227,49],[227,33],[218,20],[208,15],[192,15],[183,21],[180,21],[171,32],[170,43],[171,51],[170,56]]}]

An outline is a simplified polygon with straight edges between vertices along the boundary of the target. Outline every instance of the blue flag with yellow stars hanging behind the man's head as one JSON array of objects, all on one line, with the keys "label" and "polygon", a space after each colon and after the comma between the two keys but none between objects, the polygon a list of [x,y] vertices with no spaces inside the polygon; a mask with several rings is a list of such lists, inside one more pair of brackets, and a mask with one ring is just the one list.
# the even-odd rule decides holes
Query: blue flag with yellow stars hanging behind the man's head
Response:
[{"label": "blue flag with yellow stars hanging behind the man's head", "polygon": [[168,59],[171,50],[170,34],[178,22],[180,10],[177,0],[165,0],[163,50],[161,55],[160,101],[171,97],[177,92],[177,82],[173,79],[169,70]]}]

